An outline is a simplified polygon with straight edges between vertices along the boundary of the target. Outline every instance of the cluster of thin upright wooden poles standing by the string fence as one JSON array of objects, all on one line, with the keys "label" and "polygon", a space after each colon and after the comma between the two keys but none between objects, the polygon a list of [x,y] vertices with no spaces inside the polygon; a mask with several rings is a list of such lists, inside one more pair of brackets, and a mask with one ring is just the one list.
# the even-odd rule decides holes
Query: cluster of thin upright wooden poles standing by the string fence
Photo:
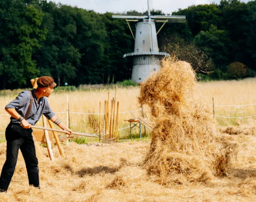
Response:
[{"label": "cluster of thin upright wooden poles standing by the string fence", "polygon": [[[117,87],[116,87],[117,91]],[[109,98],[104,101],[104,124],[103,124],[103,135],[101,135],[101,102],[99,102],[99,137],[106,141],[118,141],[118,113],[119,113],[119,102]],[[110,106],[109,106],[110,105]]]}]

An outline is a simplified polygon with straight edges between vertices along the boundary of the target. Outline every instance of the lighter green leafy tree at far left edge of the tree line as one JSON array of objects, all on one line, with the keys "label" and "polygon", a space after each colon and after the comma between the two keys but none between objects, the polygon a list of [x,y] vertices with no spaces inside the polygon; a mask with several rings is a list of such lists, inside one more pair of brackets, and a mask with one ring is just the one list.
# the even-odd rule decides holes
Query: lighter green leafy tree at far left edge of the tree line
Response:
[{"label": "lighter green leafy tree at far left edge of the tree line", "polygon": [[[36,2],[36,1],[35,1]],[[0,88],[23,87],[39,70],[32,54],[46,39],[43,13],[33,2],[0,1]]]}]

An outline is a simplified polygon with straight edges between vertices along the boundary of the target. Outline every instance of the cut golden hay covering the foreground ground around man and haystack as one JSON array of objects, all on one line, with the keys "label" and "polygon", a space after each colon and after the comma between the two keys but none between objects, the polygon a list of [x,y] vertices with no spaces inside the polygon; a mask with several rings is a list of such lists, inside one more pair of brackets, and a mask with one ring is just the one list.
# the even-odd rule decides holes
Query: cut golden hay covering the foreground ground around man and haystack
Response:
[{"label": "cut golden hay covering the foreground ground around man and haystack", "polygon": [[[21,153],[7,193],[1,202],[170,202],[254,201],[256,197],[256,137],[226,137],[238,144],[239,153],[228,176],[205,183],[161,186],[148,176],[143,160],[149,142],[131,141],[109,146],[64,146],[66,159],[53,148],[54,162],[47,149],[37,148],[41,189],[28,186]],[[0,165],[5,160],[5,143],[0,144]]]}]

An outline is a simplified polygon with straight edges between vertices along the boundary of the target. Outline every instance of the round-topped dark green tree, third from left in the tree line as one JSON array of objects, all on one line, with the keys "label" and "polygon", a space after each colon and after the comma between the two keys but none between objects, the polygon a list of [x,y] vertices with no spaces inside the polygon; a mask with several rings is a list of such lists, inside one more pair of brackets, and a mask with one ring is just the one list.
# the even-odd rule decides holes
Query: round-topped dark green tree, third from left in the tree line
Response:
[{"label": "round-topped dark green tree, third from left in the tree line", "polygon": [[79,77],[73,82],[76,82],[76,85],[99,83],[103,71],[101,63],[104,60],[106,28],[99,14],[83,9],[76,10],[77,36],[74,45],[80,50],[81,64],[77,68]]}]

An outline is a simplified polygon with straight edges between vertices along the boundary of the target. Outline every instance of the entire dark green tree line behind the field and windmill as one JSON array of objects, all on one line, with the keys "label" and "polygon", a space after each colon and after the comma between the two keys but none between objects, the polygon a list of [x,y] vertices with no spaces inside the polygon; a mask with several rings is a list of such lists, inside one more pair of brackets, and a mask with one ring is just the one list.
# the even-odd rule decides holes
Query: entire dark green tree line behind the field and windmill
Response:
[{"label": "entire dark green tree line behind the field and windmill", "polygon": [[[190,62],[202,79],[255,76],[256,1],[222,0],[173,15],[186,15],[186,23],[164,26],[157,35],[160,51]],[[0,1],[0,89],[29,87],[41,75],[58,85],[123,81],[133,63],[123,54],[133,48],[126,21],[112,13],[46,0]]]}]

